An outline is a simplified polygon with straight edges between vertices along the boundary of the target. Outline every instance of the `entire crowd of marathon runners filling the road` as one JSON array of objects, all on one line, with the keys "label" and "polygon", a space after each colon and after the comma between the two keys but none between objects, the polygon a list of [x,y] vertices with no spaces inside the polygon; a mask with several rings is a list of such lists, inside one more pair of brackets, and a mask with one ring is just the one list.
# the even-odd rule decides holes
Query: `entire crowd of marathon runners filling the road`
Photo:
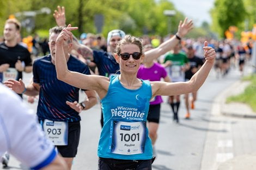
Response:
[{"label": "entire crowd of marathon runners filling the road", "polygon": [[[164,102],[161,96],[169,96],[166,102],[170,113],[179,123],[180,95],[185,95],[185,118],[189,119],[197,90],[211,68],[216,69],[217,78],[236,66],[242,74],[252,53],[249,42],[185,39],[193,28],[187,18],[180,21],[175,35],[156,45],[149,36],[126,35],[119,29],[111,30],[106,39],[89,33],[77,38],[71,32],[77,27],[67,24],[65,15],[64,7],[54,11],[57,26],[49,30],[50,54],[36,56],[35,60],[17,39],[20,22],[5,22],[4,41],[0,43],[0,82],[21,98],[27,95],[33,100],[38,96],[39,123],[31,120],[19,97],[0,85],[0,156],[5,167],[10,153],[33,169],[71,169],[80,141],[79,114],[100,98],[99,169],[151,169]],[[22,72],[33,73],[31,84],[23,83]],[[80,90],[86,94],[82,102],[78,101]],[[3,98],[15,101],[13,110],[8,110],[12,106],[4,104]],[[6,125],[20,117],[28,122],[27,129],[22,128],[25,136],[15,133],[18,125]],[[33,133],[27,132],[33,129]],[[34,148],[15,146],[13,143],[21,137],[25,143],[35,142]]]}]

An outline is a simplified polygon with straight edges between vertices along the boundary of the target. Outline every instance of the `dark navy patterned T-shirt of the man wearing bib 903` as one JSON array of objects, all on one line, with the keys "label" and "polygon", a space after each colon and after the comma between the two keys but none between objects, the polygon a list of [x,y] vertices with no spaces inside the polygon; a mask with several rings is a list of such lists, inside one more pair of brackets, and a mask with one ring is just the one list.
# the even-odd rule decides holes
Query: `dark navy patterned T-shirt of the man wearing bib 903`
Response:
[{"label": "dark navy patterned T-shirt of the man wearing bib 903", "polygon": [[[66,104],[66,101],[78,101],[80,89],[58,80],[51,60],[49,54],[35,60],[33,64],[33,81],[40,84],[37,115],[39,119],[47,118],[52,121],[81,121],[78,112]],[[88,66],[72,55],[68,60],[68,67],[72,71],[90,74]]]}]

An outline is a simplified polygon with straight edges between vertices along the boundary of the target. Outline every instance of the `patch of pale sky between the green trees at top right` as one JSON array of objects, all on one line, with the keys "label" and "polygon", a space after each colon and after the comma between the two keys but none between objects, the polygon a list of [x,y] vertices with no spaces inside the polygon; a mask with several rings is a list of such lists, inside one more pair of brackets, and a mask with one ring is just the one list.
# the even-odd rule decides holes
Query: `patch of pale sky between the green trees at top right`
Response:
[{"label": "patch of pale sky between the green trees at top right", "polygon": [[203,21],[211,23],[210,9],[214,7],[215,0],[169,0],[175,8],[185,16],[191,18],[196,26]]}]

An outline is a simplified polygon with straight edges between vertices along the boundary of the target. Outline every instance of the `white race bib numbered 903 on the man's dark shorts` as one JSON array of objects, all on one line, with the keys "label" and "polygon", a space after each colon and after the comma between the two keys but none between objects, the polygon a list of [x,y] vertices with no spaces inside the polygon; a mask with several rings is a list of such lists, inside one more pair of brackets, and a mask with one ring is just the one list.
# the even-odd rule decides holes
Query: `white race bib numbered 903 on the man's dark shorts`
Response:
[{"label": "white race bib numbered 903 on the man's dark shorts", "polygon": [[68,122],[45,119],[43,128],[47,138],[56,146],[68,145]]}]

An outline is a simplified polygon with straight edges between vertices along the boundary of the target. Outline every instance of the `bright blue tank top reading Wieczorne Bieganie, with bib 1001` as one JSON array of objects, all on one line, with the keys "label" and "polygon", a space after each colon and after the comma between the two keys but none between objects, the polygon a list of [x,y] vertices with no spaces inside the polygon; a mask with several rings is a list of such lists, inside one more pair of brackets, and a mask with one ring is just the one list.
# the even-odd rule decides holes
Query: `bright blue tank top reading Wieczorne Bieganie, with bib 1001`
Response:
[{"label": "bright blue tank top reading Wieczorne Bieganie, with bib 1001", "polygon": [[103,128],[98,156],[123,160],[153,158],[152,144],[146,126],[151,84],[141,80],[136,90],[123,87],[118,75],[110,78],[107,95],[101,100]]}]

